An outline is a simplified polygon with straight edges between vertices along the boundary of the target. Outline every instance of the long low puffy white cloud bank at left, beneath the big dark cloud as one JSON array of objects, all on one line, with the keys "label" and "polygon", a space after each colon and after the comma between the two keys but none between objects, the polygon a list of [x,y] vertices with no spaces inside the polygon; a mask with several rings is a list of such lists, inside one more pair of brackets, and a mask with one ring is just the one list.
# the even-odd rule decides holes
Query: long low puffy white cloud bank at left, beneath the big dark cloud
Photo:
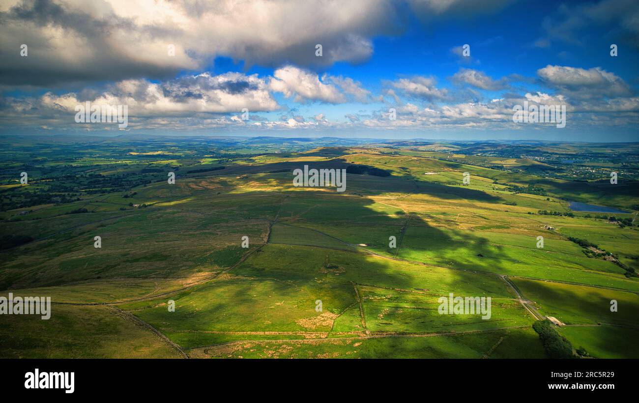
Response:
[{"label": "long low puffy white cloud bank at left, beneath the big dark cloud", "polygon": [[[33,119],[46,125],[68,126],[74,122],[76,105],[85,102],[127,105],[129,116],[141,119],[199,118],[217,119],[220,123],[229,120],[213,115],[240,114],[243,108],[250,112],[280,108],[264,79],[241,73],[202,73],[160,83],[144,79],[122,80],[104,91],[87,94],[56,95],[48,91],[39,97],[4,98],[0,102],[2,121],[22,125]],[[171,121],[179,122],[180,119]]]}]

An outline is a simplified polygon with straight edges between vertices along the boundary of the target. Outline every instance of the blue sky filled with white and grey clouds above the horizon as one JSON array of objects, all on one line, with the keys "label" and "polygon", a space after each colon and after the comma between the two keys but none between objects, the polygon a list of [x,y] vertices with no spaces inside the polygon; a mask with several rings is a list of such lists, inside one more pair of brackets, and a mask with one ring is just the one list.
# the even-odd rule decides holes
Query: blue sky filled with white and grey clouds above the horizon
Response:
[{"label": "blue sky filled with white and grey clouds above the horizon", "polygon": [[638,66],[636,0],[3,0],[0,133],[639,141]]}]

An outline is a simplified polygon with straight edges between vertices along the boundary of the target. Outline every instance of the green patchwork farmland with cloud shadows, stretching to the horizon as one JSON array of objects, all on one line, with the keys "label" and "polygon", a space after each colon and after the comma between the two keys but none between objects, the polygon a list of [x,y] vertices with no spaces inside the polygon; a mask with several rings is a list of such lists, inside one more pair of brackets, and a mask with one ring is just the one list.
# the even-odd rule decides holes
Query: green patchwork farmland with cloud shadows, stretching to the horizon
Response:
[{"label": "green patchwork farmland with cloud shadows, stretching to the horizon", "polygon": [[[532,323],[548,316],[574,349],[638,356],[635,176],[574,181],[572,166],[472,144],[321,145],[0,152],[0,296],[53,301],[49,321],[0,316],[0,357],[544,358]],[[548,147],[535,151],[561,158]],[[304,164],[385,176],[348,173],[343,193],[295,187]],[[15,186],[22,170],[33,182]],[[490,318],[440,314],[450,293],[491,298]]]}]

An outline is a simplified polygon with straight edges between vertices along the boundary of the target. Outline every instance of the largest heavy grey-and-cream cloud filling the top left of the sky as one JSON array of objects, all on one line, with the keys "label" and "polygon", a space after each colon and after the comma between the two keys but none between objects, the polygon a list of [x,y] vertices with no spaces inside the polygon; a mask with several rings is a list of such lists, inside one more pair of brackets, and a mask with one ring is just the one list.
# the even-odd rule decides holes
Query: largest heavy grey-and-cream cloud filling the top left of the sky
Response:
[{"label": "largest heavy grey-and-cream cloud filling the top left of the sky", "polygon": [[[7,0],[0,83],[162,79],[215,56],[248,66],[359,63],[373,52],[371,37],[399,31],[396,8],[385,0]],[[22,43],[28,57],[19,55]]]}]

